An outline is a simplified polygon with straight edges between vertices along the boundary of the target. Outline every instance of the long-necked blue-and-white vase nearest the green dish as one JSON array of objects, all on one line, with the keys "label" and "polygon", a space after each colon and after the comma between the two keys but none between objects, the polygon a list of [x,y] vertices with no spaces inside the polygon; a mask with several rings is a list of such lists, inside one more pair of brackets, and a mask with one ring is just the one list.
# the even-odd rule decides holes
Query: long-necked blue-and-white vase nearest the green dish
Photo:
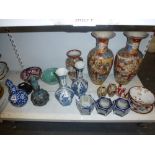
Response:
[{"label": "long-necked blue-and-white vase nearest the green dish", "polygon": [[68,70],[66,68],[58,68],[56,74],[59,77],[59,88],[55,92],[55,97],[63,106],[70,105],[74,97],[73,90],[67,86],[66,77]]}]

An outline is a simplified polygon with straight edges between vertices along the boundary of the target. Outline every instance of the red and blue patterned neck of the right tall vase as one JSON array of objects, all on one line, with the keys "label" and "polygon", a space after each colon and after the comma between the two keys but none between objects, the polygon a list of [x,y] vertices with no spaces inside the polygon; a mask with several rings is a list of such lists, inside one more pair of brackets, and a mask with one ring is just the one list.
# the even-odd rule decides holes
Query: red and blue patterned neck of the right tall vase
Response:
[{"label": "red and blue patterned neck of the right tall vase", "polygon": [[138,52],[140,42],[141,42],[140,38],[127,38],[127,44],[126,44],[127,51]]}]

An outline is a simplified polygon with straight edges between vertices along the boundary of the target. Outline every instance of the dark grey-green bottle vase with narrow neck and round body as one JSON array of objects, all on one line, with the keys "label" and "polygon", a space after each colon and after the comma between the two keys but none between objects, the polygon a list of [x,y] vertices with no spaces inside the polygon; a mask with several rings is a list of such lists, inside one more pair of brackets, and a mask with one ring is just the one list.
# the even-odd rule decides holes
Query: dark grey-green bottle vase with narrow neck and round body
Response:
[{"label": "dark grey-green bottle vase with narrow neck and round body", "polygon": [[46,90],[40,89],[40,86],[38,84],[38,80],[36,77],[31,76],[30,78],[31,85],[34,89],[34,91],[31,94],[31,101],[36,106],[43,106],[46,105],[49,101],[49,94]]}]

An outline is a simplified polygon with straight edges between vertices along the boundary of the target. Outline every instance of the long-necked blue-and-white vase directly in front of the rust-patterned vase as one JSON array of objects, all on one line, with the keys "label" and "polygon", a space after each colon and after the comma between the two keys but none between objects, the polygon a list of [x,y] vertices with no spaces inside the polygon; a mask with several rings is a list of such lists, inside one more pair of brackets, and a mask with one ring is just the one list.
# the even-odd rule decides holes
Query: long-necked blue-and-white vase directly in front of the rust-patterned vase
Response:
[{"label": "long-necked blue-and-white vase directly in front of the rust-patterned vase", "polygon": [[77,95],[78,97],[85,95],[88,89],[88,82],[83,79],[84,66],[85,65],[83,61],[78,61],[75,63],[77,78],[72,82],[71,88],[74,91],[75,95]]}]

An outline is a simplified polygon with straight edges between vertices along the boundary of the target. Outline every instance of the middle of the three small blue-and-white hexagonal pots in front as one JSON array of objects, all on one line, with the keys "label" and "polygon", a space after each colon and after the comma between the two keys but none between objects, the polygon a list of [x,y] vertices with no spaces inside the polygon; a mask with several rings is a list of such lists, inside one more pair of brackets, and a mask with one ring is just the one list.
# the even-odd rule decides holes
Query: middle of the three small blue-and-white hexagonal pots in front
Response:
[{"label": "middle of the three small blue-and-white hexagonal pots in front", "polygon": [[113,103],[109,98],[101,97],[95,103],[95,108],[99,114],[107,116],[112,111]]}]

